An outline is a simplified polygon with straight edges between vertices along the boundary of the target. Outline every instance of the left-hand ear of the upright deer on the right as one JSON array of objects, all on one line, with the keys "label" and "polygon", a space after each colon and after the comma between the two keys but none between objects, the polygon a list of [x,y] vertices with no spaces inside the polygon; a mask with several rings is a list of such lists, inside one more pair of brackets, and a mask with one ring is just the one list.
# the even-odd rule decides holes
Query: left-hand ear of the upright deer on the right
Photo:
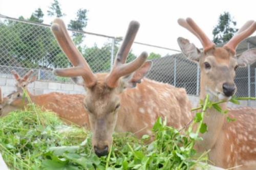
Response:
[{"label": "left-hand ear of the upright deer on the right", "polygon": [[199,62],[201,51],[189,40],[179,37],[177,39],[182,53],[191,61]]}]

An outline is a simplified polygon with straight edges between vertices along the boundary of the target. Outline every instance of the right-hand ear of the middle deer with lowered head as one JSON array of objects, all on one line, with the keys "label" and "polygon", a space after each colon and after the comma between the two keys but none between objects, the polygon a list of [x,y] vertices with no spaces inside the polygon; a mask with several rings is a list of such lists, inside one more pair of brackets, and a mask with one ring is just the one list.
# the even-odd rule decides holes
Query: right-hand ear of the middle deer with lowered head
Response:
[{"label": "right-hand ear of the middle deer with lowered head", "polygon": [[137,69],[133,74],[125,76],[122,79],[123,88],[134,88],[137,83],[141,82],[141,79],[146,76],[147,72],[150,71],[152,67],[152,61],[146,61],[139,69]]}]

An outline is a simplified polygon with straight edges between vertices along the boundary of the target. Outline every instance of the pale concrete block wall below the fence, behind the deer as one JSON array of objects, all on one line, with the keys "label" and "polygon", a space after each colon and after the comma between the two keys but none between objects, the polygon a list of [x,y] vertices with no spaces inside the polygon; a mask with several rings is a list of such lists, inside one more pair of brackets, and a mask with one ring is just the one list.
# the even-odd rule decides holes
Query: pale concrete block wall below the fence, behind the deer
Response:
[{"label": "pale concrete block wall below the fence, behind the deer", "polygon": [[[15,80],[13,78],[3,78],[0,77],[0,87],[2,88],[2,93],[4,96],[13,92],[15,88]],[[35,81],[28,86],[29,91],[32,94],[45,94],[50,92],[61,92],[68,94],[84,94],[85,91],[82,86],[78,86],[72,83],[55,83],[55,82],[45,82],[45,81]],[[195,95],[188,96],[193,108],[197,107],[199,103],[199,97]],[[249,106],[248,101],[241,101],[240,105],[235,105],[228,103],[229,107],[240,107]],[[250,101],[251,107],[256,107],[255,101]]]}]

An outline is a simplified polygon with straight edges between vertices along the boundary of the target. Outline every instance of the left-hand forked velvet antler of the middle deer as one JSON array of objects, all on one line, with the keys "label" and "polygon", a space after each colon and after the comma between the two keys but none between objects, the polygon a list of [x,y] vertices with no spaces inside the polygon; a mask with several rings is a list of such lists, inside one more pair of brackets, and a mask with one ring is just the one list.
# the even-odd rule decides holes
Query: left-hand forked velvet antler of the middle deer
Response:
[{"label": "left-hand forked velvet antler of the middle deer", "polygon": [[53,21],[51,29],[62,51],[74,66],[72,68],[54,69],[54,74],[62,77],[82,76],[87,87],[94,86],[96,83],[95,75],[71,40],[64,22],[56,18]]}]

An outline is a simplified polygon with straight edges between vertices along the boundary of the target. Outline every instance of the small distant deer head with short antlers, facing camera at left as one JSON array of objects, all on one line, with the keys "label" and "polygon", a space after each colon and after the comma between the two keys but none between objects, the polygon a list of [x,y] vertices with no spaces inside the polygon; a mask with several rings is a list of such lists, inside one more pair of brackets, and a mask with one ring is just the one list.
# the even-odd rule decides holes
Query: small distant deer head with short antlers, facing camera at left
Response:
[{"label": "small distant deer head with short antlers, facing camera at left", "polygon": [[32,82],[36,81],[36,79],[37,79],[36,76],[29,78],[32,75],[33,70],[29,70],[23,77],[20,77],[15,70],[12,70],[11,73],[13,74],[13,76],[17,82],[15,84],[17,91],[23,91],[23,89],[27,88],[29,83],[32,83]]}]

